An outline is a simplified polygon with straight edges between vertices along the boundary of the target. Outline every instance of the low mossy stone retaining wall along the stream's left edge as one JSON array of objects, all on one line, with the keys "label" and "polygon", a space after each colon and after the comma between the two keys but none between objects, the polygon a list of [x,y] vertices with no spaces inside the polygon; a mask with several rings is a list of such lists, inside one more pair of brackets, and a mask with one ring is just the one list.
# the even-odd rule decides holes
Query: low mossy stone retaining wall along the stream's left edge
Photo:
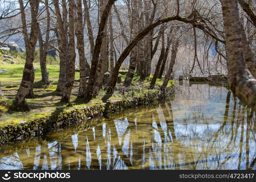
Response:
[{"label": "low mossy stone retaining wall along the stream's left edge", "polygon": [[[173,90],[173,87],[168,87],[167,90],[168,89]],[[95,116],[103,116],[126,108],[150,104],[158,101],[160,98],[160,91],[144,93],[143,96],[134,97],[132,100],[109,101],[54,113],[43,118],[32,119],[15,125],[0,126],[0,143],[42,135],[44,132],[60,128],[61,126],[69,126],[74,123],[85,122],[85,125],[90,125],[90,119]]]}]

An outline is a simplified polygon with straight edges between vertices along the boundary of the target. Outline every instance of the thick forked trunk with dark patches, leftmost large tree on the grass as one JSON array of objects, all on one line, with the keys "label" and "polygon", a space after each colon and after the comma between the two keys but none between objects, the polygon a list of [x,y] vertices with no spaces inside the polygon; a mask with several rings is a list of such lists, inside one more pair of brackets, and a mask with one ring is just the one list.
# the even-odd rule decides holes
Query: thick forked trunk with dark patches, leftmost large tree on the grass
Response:
[{"label": "thick forked trunk with dark patches, leftmost large tree on the grass", "polygon": [[25,97],[27,96],[27,94],[29,94],[31,88],[33,89],[33,83],[31,82],[31,79],[33,79],[33,61],[38,36],[37,12],[39,7],[39,0],[29,1],[29,3],[31,7],[30,36],[27,32],[27,23],[23,0],[19,0],[23,28],[23,38],[26,47],[26,62],[23,70],[22,81],[14,100],[14,109],[19,111],[29,110],[29,107],[25,104]]}]

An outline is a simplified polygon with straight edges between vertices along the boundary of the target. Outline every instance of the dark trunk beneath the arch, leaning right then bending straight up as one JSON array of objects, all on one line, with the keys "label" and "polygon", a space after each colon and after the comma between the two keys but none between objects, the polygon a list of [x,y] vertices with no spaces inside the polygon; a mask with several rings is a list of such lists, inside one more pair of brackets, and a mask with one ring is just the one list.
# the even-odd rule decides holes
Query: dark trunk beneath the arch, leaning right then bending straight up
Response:
[{"label": "dark trunk beneath the arch, leaning right then bending straight up", "polygon": [[162,61],[163,61],[163,57],[165,55],[165,25],[162,24],[161,25],[161,30],[162,30],[162,49],[161,49],[161,53],[157,62],[157,66],[155,67],[155,73],[153,75],[153,78],[151,80],[150,83],[150,88],[153,89],[155,87],[155,82],[157,81],[157,76],[159,74],[159,69],[161,67]]}]

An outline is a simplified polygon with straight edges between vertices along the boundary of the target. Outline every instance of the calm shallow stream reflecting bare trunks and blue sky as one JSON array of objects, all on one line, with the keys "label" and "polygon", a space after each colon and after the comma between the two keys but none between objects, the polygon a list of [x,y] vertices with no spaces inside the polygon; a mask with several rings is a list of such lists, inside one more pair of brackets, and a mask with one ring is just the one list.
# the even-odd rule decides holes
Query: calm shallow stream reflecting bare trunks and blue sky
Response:
[{"label": "calm shallow stream reflecting bare trunks and blue sky", "polygon": [[256,169],[255,112],[223,87],[0,145],[0,169]]}]

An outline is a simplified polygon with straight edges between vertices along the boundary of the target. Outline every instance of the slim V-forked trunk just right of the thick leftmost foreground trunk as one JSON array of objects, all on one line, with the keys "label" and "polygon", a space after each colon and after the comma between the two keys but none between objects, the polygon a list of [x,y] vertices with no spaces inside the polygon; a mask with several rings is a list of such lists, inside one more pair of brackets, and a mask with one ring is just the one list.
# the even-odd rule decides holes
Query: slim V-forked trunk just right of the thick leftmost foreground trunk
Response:
[{"label": "slim V-forked trunk just right of the thick leftmost foreground trunk", "polygon": [[47,28],[46,28],[46,36],[45,43],[42,39],[42,33],[40,28],[38,27],[38,41],[39,41],[39,54],[40,54],[40,68],[42,74],[42,82],[46,85],[49,85],[49,74],[46,68],[46,56],[49,45],[49,35],[50,35],[50,13],[48,7],[48,0],[45,0],[46,14],[47,14]]}]

